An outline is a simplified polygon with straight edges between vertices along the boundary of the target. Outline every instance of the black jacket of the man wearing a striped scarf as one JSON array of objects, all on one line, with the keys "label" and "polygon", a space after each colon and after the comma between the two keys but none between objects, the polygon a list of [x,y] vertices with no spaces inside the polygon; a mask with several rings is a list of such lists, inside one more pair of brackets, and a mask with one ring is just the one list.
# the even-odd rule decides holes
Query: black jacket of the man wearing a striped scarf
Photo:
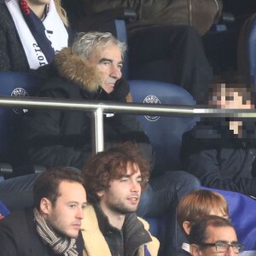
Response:
[{"label": "black jacket of the man wearing a striped scarf", "polygon": [[[82,256],[84,240],[81,233],[76,245]],[[0,248],[1,256],[61,256],[53,253],[38,236],[32,208],[13,212],[0,221]]]}]

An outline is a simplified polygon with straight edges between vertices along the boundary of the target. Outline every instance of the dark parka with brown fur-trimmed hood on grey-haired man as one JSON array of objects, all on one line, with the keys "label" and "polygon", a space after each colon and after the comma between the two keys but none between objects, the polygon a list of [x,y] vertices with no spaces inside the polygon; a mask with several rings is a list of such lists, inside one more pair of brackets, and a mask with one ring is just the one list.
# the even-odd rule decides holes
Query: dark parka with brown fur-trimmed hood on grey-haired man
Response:
[{"label": "dark parka with brown fur-trimmed hood on grey-haired man", "polygon": [[[44,67],[47,68],[47,67]],[[122,79],[109,95],[102,90],[96,67],[72,55],[69,48],[55,55],[48,82],[38,96],[87,102],[126,102],[129,85]],[[75,166],[81,168],[91,154],[90,113],[78,111],[36,110],[24,119],[24,145],[32,164],[43,166]],[[145,157],[152,156],[148,137],[135,115],[104,115],[105,148],[127,140],[139,143]]]}]

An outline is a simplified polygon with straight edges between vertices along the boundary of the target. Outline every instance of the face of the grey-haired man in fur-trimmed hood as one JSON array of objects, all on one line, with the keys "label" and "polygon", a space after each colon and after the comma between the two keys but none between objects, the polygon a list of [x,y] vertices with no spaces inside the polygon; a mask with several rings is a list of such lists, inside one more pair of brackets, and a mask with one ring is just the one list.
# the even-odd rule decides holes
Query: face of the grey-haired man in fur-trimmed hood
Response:
[{"label": "face of the grey-haired man in fur-trimmed hood", "polygon": [[114,89],[115,82],[122,77],[123,60],[118,46],[108,44],[90,56],[90,61],[101,73],[102,89],[108,94]]}]

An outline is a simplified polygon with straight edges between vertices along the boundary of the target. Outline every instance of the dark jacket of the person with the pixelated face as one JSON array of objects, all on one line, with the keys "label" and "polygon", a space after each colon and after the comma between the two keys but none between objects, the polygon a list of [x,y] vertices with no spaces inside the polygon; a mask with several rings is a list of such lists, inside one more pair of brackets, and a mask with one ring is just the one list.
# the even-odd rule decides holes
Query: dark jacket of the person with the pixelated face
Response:
[{"label": "dark jacket of the person with the pixelated face", "polygon": [[255,196],[255,124],[243,122],[241,137],[226,124],[224,119],[208,119],[183,135],[184,168],[203,186]]}]

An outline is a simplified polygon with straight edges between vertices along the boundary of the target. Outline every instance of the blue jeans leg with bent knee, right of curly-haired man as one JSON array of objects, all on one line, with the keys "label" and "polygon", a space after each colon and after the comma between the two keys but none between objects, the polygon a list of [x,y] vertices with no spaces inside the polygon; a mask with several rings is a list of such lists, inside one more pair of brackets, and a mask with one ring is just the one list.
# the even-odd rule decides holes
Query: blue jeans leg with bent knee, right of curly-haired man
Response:
[{"label": "blue jeans leg with bent knee, right of curly-haired man", "polygon": [[188,172],[166,172],[149,182],[143,192],[137,215],[143,218],[160,218],[166,215],[166,230],[160,241],[162,256],[177,255],[184,241],[187,241],[177,224],[177,204],[184,195],[199,189],[198,179]]}]

